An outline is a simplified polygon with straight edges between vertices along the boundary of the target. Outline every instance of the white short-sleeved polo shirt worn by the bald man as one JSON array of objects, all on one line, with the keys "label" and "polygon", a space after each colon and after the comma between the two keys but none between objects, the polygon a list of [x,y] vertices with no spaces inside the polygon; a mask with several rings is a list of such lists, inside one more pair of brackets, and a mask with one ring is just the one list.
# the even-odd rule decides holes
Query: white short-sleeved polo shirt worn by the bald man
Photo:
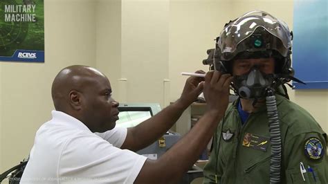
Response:
[{"label": "white short-sleeved polo shirt worn by the bald man", "polygon": [[93,134],[80,120],[51,113],[37,131],[21,183],[134,183],[147,158],[118,148],[126,128]]}]

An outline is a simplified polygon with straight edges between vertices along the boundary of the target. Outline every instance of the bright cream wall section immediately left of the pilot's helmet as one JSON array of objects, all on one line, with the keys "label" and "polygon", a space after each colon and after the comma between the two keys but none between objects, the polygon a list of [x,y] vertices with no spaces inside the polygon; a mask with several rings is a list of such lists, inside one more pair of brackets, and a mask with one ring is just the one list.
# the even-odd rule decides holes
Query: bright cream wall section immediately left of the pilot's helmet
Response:
[{"label": "bright cream wall section immediately left of the pilot's helmet", "polygon": [[228,0],[170,1],[170,101],[174,102],[183,90],[187,77],[181,72],[208,71],[202,64],[206,50],[215,48],[232,6]]}]

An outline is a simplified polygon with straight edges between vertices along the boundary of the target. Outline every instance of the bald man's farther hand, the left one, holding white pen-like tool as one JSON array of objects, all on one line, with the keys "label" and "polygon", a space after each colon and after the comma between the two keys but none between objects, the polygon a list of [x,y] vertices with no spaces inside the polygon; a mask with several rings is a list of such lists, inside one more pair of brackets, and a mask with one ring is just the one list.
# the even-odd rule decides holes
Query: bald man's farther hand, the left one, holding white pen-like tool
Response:
[{"label": "bald man's farther hand, the left one, holding white pen-like tool", "polygon": [[[196,71],[195,73],[205,73],[204,71]],[[201,91],[203,91],[203,77],[188,77],[185,81],[180,101],[185,107],[196,101]]]}]

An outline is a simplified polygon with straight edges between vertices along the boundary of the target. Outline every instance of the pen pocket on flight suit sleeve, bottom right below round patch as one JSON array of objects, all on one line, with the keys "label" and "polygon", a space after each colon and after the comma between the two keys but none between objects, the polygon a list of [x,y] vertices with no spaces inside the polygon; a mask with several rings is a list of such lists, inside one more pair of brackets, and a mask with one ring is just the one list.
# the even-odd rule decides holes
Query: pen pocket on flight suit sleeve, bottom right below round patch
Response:
[{"label": "pen pocket on flight suit sleeve, bottom right below round patch", "polygon": [[319,181],[319,178],[316,174],[318,174],[318,170],[316,168],[313,168],[313,172],[305,172],[303,174],[303,176],[304,176],[304,179],[303,179],[299,168],[298,169],[287,169],[286,170],[286,181],[288,184],[294,184],[294,183],[320,184],[321,182]]}]

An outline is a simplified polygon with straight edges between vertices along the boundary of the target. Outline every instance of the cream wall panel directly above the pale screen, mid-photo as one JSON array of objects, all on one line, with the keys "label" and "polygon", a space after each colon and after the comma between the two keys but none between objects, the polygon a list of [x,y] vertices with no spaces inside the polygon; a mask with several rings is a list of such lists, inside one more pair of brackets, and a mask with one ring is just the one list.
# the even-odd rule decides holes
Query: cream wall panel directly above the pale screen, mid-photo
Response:
[{"label": "cream wall panel directly above the pale screen, mid-photo", "polygon": [[127,91],[126,102],[159,102],[163,107],[169,60],[168,16],[168,0],[122,0],[121,77],[127,79],[122,88]]}]

